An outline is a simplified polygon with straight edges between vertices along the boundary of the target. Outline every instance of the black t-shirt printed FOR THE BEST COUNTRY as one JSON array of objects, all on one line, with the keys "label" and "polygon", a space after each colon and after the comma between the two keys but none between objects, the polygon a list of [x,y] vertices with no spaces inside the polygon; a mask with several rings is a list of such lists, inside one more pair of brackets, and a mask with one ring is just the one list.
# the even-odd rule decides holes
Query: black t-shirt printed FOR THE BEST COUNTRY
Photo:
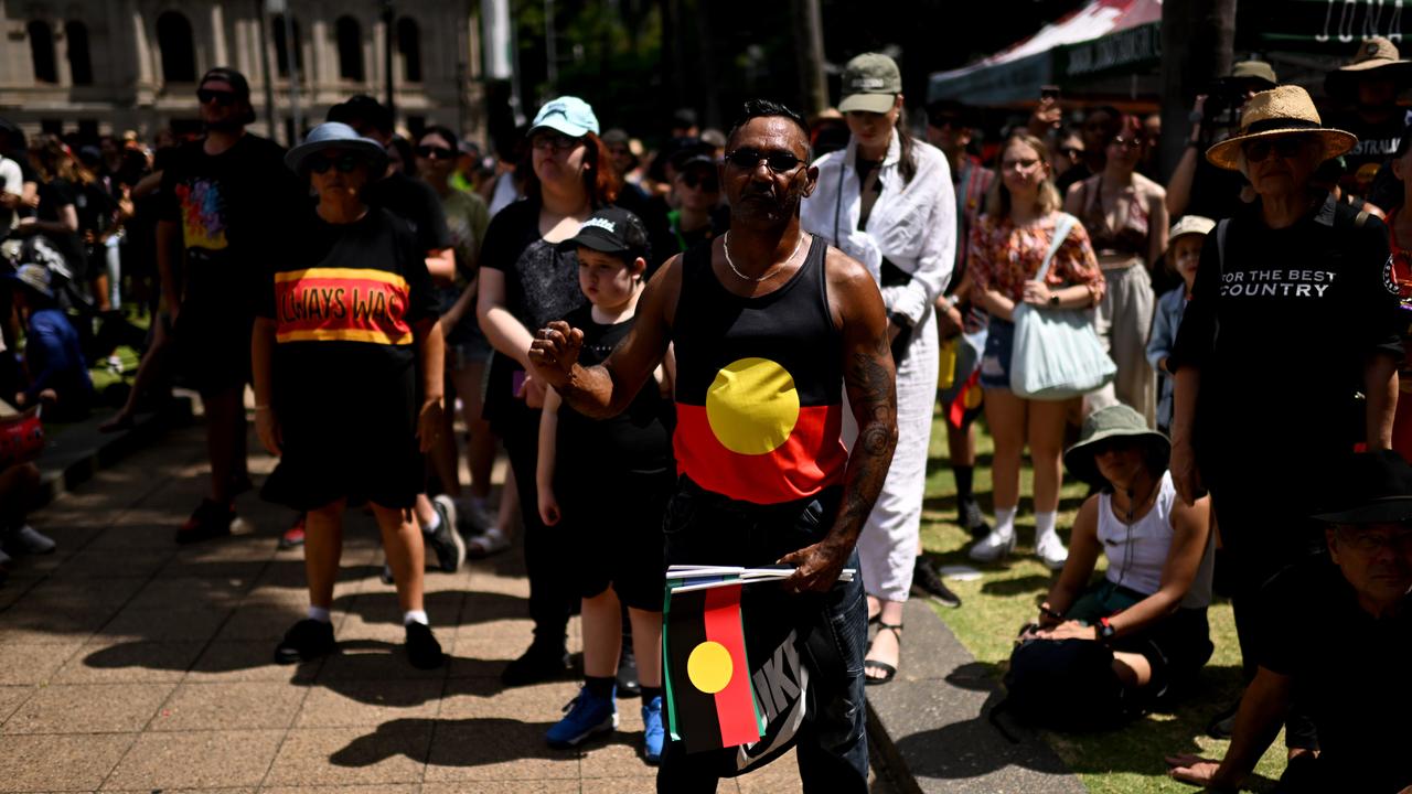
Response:
[{"label": "black t-shirt printed FOR THE BEST COUNTRY", "polygon": [[1224,263],[1219,227],[1206,236],[1172,356],[1202,372],[1196,444],[1209,485],[1260,476],[1309,493],[1361,441],[1364,365],[1402,348],[1387,226],[1356,216],[1326,198],[1268,229],[1257,202],[1228,220]]}]

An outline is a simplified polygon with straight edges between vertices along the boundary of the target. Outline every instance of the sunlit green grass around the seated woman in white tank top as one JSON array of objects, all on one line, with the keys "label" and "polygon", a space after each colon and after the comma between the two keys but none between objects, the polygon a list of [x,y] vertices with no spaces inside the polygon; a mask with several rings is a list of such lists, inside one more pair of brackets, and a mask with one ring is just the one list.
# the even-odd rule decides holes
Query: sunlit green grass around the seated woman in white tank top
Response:
[{"label": "sunlit green grass around the seated woman in white tank top", "polygon": [[[991,513],[990,454],[991,439],[984,422],[977,422],[979,461],[976,494]],[[1059,503],[1059,533],[1067,540],[1086,486],[1065,483]],[[1021,502],[1017,533],[1019,547],[1008,561],[976,565],[966,557],[970,535],[956,524],[956,480],[947,462],[946,428],[938,420],[932,432],[931,462],[926,478],[926,502],[922,513],[922,540],[939,565],[976,565],[981,578],[971,582],[947,582],[964,606],[946,609],[933,605],[956,637],[976,658],[991,665],[997,680],[1010,658],[1019,626],[1035,617],[1035,605],[1049,592],[1051,572],[1034,557],[1034,504],[1029,500],[1031,469],[1021,473]],[[1100,562],[1101,565],[1101,562]],[[1175,713],[1154,713],[1123,729],[1101,733],[1053,733],[1045,739],[1094,793],[1134,794],[1156,791],[1197,791],[1166,777],[1166,754],[1196,753],[1220,759],[1227,742],[1206,736],[1211,715],[1234,701],[1240,692],[1240,646],[1230,603],[1217,600],[1210,613],[1211,641],[1216,653],[1202,672],[1200,689]],[[997,742],[1004,742],[997,735]],[[1268,791],[1284,770],[1284,739],[1275,742],[1257,767],[1250,791]]]}]

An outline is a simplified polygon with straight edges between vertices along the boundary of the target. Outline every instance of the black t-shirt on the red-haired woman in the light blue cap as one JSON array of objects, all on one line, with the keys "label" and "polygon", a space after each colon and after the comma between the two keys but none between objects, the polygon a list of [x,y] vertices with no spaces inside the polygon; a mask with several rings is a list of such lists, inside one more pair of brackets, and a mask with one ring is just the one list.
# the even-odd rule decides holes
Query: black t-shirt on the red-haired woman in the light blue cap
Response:
[{"label": "black t-shirt on the red-haired woman in the light blue cap", "polygon": [[579,290],[579,254],[539,236],[538,201],[525,199],[490,219],[480,266],[505,277],[505,307],[530,332],[589,301]]}]

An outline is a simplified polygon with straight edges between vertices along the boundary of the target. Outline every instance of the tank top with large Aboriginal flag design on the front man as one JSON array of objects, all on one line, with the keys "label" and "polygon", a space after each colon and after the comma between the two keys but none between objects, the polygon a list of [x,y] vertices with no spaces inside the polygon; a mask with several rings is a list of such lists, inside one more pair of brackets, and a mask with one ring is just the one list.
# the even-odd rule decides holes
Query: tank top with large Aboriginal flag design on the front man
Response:
[{"label": "tank top with large Aboriginal flag design on the front man", "polygon": [[678,472],[757,504],[805,499],[843,482],[842,338],[813,239],[781,288],[741,298],[710,268],[712,246],[682,257],[676,345]]}]

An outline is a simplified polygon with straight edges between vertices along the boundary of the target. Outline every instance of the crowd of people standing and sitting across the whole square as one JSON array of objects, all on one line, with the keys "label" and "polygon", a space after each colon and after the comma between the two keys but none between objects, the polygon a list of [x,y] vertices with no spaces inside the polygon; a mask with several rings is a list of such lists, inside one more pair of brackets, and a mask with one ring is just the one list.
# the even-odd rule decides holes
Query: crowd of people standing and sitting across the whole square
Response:
[{"label": "crowd of people standing and sitting across the whole square", "polygon": [[[1163,185],[1152,117],[1099,106],[1067,124],[1046,97],[983,148],[960,103],[908,123],[881,54],[849,61],[837,110],[812,120],[751,100],[700,130],[681,110],[648,153],[561,96],[491,157],[446,127],[400,136],[367,96],[285,151],[247,131],[249,85],[217,68],[196,92],[205,136],[155,153],[136,137],[25,150],[0,126],[0,389],[20,411],[85,415],[88,367],[140,307],[143,362],[104,427],[174,373],[201,393],[209,494],[176,543],[240,521],[253,386],[278,456],[261,496],[294,511],[280,544],[304,547],[309,589],[277,661],[336,648],[349,507],[378,524],[422,668],[443,663],[426,564],[456,571],[518,535],[534,640],[504,682],[568,675],[580,613],[583,687],[546,742],[613,730],[637,695],[642,757],[672,793],[789,743],[806,790],[867,790],[864,687],[898,675],[904,603],[962,606],[919,534],[940,415],[974,561],[1017,551],[1029,454],[1028,548],[1058,574],[1017,639],[1018,713],[1114,723],[1182,698],[1221,592],[1248,687],[1211,721],[1224,762],[1172,757],[1172,774],[1234,788],[1284,723],[1282,790],[1392,794],[1412,786],[1396,752],[1412,742],[1396,667],[1412,650],[1409,83],[1395,45],[1368,40],[1329,75],[1351,110],[1326,124],[1303,88],[1237,64],[1197,100]],[[1028,390],[1036,333],[1063,355],[1091,345],[1107,376]],[[4,548],[52,550],[24,520],[32,463],[10,463]],[[1067,545],[1066,472],[1090,487]],[[668,740],[674,564],[795,568],[743,606],[784,622],[810,668],[812,705],[768,715],[768,750]]]}]

